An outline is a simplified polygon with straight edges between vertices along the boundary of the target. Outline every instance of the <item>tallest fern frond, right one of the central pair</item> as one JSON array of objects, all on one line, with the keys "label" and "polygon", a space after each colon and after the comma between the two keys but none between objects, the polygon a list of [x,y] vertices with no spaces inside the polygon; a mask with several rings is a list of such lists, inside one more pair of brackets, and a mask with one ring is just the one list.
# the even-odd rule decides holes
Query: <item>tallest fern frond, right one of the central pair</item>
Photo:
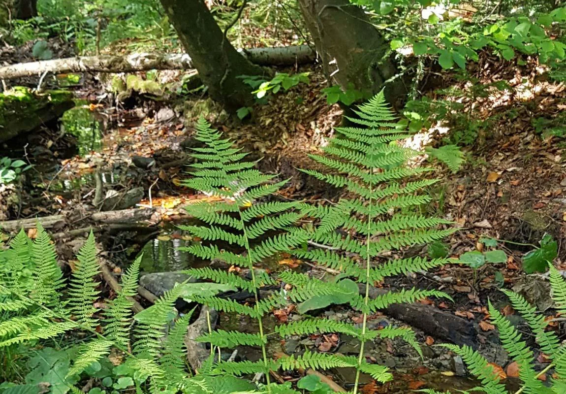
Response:
[{"label": "tallest fern frond, right one of the central pair", "polygon": [[[423,188],[436,179],[405,180],[427,172],[428,168],[410,168],[406,162],[418,155],[402,147],[398,141],[410,134],[395,122],[395,116],[385,102],[383,92],[354,111],[357,117],[348,117],[353,127],[338,127],[337,136],[323,148],[324,155],[311,158],[331,170],[323,173],[303,170],[332,186],[345,187],[351,198],[340,199],[331,206],[302,205],[305,215],[318,220],[311,234],[312,245],[323,245],[310,250],[297,250],[295,255],[319,265],[338,269],[343,276],[365,284],[361,296],[351,300],[351,306],[362,312],[361,327],[349,324],[329,324],[325,320],[293,323],[281,328],[285,335],[312,332],[342,332],[354,335],[361,342],[360,352],[353,366],[357,370],[354,394],[358,391],[360,372],[370,373],[376,380],[391,379],[386,368],[370,365],[364,357],[364,344],[376,337],[401,336],[421,352],[414,334],[406,328],[391,328],[369,332],[367,316],[391,303],[414,302],[428,296],[447,297],[436,290],[411,289],[389,292],[370,299],[370,285],[384,277],[420,271],[447,264],[449,259],[427,260],[420,257],[379,262],[388,250],[427,243],[454,232],[449,221],[411,213],[418,205],[430,201]],[[339,230],[341,229],[341,230]]]}]

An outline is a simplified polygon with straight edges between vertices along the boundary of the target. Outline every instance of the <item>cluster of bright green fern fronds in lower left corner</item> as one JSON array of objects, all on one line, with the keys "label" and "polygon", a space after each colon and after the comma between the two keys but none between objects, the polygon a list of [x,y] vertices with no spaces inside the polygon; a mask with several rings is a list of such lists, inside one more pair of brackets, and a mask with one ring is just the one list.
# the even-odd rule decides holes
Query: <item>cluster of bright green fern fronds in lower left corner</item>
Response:
[{"label": "cluster of bright green fern fronds in lower left corner", "polygon": [[[170,323],[175,301],[184,291],[182,284],[134,315],[131,297],[138,286],[138,258],[122,276],[117,295],[99,310],[95,305],[100,298],[100,266],[92,233],[80,249],[67,287],[53,244],[41,225],[33,241],[22,230],[7,253],[6,267],[0,271],[0,348],[82,332],[86,337],[80,341],[67,378],[79,376],[114,348],[136,371],[138,389],[148,382],[153,392],[202,392],[203,377],[191,377],[183,362],[190,314],[176,319],[173,327]],[[31,276],[22,274],[28,270]]]}]

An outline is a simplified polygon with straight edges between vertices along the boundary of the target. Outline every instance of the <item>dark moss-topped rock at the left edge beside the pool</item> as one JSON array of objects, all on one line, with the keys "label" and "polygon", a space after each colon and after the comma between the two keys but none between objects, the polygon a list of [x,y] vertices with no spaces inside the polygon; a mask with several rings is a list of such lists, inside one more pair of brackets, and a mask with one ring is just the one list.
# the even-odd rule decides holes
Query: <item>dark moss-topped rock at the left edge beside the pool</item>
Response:
[{"label": "dark moss-topped rock at the left edge beside the pool", "polygon": [[35,93],[15,87],[0,93],[0,142],[57,119],[74,105],[72,93],[66,91]]}]

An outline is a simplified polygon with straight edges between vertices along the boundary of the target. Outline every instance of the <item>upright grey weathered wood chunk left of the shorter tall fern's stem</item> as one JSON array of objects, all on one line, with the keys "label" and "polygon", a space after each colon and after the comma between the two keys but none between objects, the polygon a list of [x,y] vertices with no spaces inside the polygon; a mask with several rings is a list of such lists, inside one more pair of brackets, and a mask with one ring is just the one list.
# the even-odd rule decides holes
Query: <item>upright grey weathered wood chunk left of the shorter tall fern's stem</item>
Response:
[{"label": "upright grey weathered wood chunk left of the shorter tall fern's stem", "polygon": [[200,336],[208,332],[208,322],[210,321],[211,329],[216,326],[216,319],[218,312],[208,306],[203,306],[200,310],[199,318],[195,320],[187,328],[185,334],[185,346],[187,346],[187,361],[193,370],[198,370],[205,359],[210,356],[210,350],[207,350],[206,345],[202,342],[197,342]]}]

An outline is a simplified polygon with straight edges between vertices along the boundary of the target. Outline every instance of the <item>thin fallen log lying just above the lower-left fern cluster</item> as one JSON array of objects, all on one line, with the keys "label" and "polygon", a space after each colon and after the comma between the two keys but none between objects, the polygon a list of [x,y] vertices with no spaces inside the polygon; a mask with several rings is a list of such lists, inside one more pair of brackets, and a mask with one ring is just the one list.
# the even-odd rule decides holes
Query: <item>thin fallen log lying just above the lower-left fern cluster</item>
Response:
[{"label": "thin fallen log lying just above the lower-left fern cluster", "polygon": [[[84,219],[92,219],[103,224],[130,224],[151,219],[155,212],[153,208],[131,208],[121,209],[120,211],[95,212]],[[51,215],[43,217],[31,217],[29,219],[0,221],[0,229],[5,232],[12,232],[19,229],[31,229],[40,223],[45,229],[61,229],[65,226],[65,215]],[[84,229],[79,229],[82,232]]]}]

